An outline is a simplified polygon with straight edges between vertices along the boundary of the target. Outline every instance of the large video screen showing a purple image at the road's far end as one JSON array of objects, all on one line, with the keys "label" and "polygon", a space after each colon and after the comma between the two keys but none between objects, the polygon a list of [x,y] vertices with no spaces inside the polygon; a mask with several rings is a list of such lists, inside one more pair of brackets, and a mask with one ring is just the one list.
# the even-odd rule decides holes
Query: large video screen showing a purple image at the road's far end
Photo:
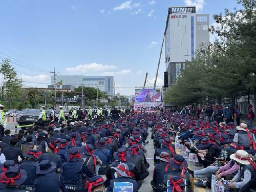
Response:
[{"label": "large video screen showing a purple image at the road's far end", "polygon": [[135,102],[161,102],[160,89],[135,89]]}]

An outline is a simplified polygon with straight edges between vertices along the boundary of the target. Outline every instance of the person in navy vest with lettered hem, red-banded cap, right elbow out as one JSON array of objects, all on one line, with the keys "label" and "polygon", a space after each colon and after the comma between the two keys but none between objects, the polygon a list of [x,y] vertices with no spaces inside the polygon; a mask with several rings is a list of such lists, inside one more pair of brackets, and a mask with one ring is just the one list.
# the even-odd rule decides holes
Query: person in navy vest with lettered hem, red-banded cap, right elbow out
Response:
[{"label": "person in navy vest with lettered hem, red-banded cap, right elbow out", "polygon": [[62,166],[67,191],[82,191],[83,174],[88,177],[94,176],[88,166],[80,161],[81,157],[77,147],[70,148],[69,161]]}]

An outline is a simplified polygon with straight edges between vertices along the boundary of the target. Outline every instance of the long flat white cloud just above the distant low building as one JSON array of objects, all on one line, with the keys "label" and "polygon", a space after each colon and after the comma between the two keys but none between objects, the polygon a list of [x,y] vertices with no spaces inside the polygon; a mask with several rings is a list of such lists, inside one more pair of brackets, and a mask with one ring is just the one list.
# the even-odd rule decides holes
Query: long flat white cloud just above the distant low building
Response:
[{"label": "long flat white cloud just above the distant low building", "polygon": [[66,71],[70,71],[70,72],[108,71],[116,68],[117,68],[116,66],[102,65],[101,63],[93,62],[90,64],[69,67],[69,68],[66,68]]}]

